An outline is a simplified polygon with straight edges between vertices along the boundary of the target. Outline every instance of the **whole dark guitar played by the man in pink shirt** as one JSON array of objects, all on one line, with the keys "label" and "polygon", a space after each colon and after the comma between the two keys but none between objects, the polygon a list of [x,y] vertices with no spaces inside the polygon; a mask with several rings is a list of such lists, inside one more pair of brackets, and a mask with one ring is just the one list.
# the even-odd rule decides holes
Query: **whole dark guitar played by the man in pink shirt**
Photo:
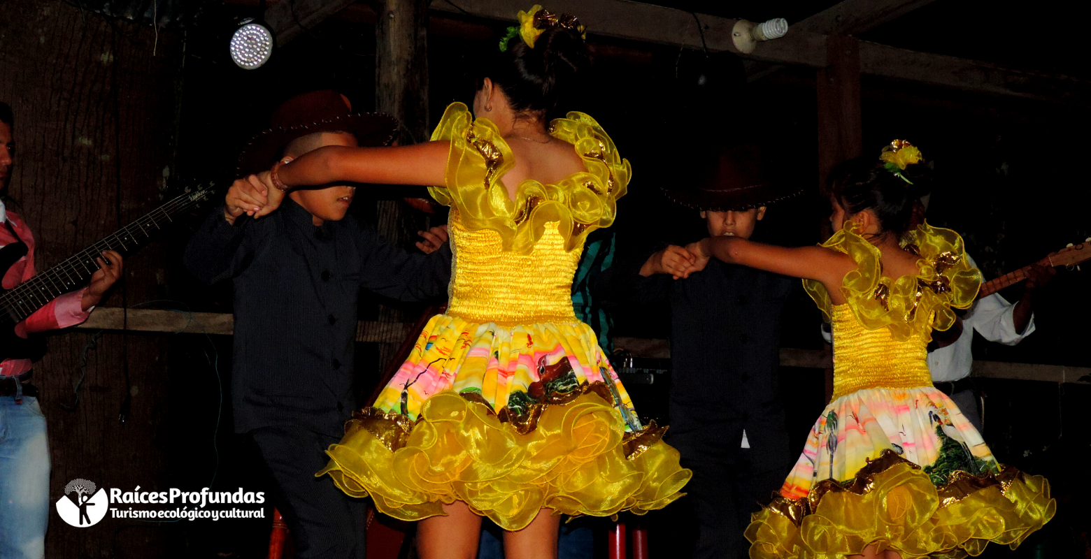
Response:
[{"label": "whole dark guitar played by the man in pink shirt", "polygon": [[[208,183],[196,189],[185,189],[184,194],[153,209],[57,266],[36,274],[12,289],[0,287],[0,361],[41,359],[46,352],[45,337],[21,338],[15,333],[16,324],[58,296],[89,283],[91,277],[98,271],[95,258],[100,257],[103,251],[117,251],[122,255],[132,253],[173,222],[175,218],[208,199],[214,187],[214,183]],[[25,255],[26,245],[23,243],[12,243],[0,248],[0,270],[5,274]]]}]

